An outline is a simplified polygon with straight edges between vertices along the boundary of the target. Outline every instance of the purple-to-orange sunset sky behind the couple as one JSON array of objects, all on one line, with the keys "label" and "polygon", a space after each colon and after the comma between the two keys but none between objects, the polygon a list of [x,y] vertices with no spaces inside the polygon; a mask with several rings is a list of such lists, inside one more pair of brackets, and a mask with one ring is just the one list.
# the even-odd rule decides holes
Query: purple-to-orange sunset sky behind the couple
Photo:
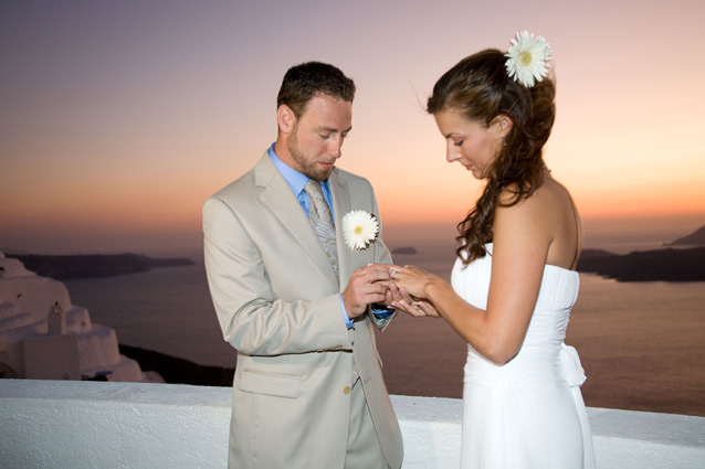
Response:
[{"label": "purple-to-orange sunset sky behind the couple", "polygon": [[198,246],[203,201],[274,141],[282,76],[309,60],[357,84],[338,166],[385,226],[452,226],[480,183],[425,99],[522,30],[554,51],[545,158],[587,234],[686,234],[705,224],[704,18],[702,0],[0,0],[0,249]]}]

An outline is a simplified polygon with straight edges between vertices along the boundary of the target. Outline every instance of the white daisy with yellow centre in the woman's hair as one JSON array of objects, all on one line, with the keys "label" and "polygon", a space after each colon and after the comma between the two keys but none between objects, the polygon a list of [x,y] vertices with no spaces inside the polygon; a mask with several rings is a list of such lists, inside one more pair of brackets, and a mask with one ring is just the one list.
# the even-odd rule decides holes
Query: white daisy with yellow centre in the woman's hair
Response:
[{"label": "white daisy with yellow centre in the woman's hair", "polygon": [[514,78],[526,87],[532,87],[548,75],[550,45],[544,36],[529,34],[527,31],[516,33],[512,46],[505,54],[509,78]]}]

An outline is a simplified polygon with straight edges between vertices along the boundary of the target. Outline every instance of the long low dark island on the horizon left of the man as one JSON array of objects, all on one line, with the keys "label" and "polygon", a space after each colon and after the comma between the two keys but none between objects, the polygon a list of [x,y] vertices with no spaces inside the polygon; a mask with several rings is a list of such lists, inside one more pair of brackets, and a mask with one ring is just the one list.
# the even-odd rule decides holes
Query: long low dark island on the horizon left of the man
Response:
[{"label": "long low dark island on the horizon left of the man", "polygon": [[57,280],[86,277],[113,277],[116,275],[149,271],[154,267],[176,267],[196,264],[186,257],[155,259],[139,254],[85,254],[46,256],[39,254],[7,254],[24,264],[29,270]]}]

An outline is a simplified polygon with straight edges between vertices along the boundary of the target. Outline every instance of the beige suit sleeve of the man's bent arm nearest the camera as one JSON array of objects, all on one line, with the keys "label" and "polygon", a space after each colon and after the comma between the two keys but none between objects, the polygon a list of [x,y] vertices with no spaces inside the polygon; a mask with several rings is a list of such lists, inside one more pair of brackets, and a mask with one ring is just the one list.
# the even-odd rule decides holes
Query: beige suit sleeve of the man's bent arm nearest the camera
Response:
[{"label": "beige suit sleeve of the man's bent arm nearest the camera", "polygon": [[[213,306],[223,338],[233,348],[249,355],[351,350],[339,294],[319,294],[320,286],[306,285],[302,298],[307,299],[280,299],[256,243],[217,198],[203,205],[203,245]],[[282,263],[286,268],[286,259]],[[287,275],[304,281],[295,268]]]}]

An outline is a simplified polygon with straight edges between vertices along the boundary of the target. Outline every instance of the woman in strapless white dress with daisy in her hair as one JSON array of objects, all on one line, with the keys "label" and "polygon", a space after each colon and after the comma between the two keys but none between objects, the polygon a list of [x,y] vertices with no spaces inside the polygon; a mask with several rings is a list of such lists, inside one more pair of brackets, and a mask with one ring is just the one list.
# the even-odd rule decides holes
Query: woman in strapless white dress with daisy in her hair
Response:
[{"label": "woman in strapless white dress with daisy in her hair", "polygon": [[482,51],[438,81],[428,111],[448,161],[486,185],[459,224],[452,286],[391,266],[407,298],[394,306],[443,318],[469,343],[463,469],[594,467],[585,374],[564,343],[581,223],[541,157],[555,118],[549,58],[543,38],[522,33],[508,53]]}]

